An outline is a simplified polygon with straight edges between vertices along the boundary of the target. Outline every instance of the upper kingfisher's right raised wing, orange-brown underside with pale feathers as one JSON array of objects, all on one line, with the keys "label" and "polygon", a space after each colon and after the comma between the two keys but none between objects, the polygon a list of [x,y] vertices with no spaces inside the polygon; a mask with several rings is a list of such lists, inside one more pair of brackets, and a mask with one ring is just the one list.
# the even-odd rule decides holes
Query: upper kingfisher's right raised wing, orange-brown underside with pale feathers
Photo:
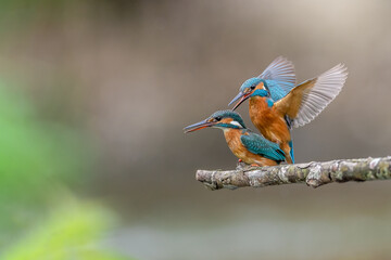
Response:
[{"label": "upper kingfisher's right raised wing, orange-brown underside with pale feathers", "polygon": [[276,109],[292,121],[292,127],[302,127],[312,121],[341,91],[348,77],[342,64],[310,79],[291,90],[275,103]]}]

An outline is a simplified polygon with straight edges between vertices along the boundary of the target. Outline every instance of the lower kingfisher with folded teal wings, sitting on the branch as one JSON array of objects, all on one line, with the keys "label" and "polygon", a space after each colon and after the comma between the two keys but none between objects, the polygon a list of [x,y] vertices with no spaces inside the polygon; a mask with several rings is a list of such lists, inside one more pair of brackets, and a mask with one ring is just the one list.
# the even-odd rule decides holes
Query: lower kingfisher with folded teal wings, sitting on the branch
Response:
[{"label": "lower kingfisher with folded teal wings, sitting on the branch", "polygon": [[232,110],[218,110],[205,120],[184,128],[185,133],[203,128],[219,128],[230,151],[242,161],[253,166],[276,166],[285,160],[279,145],[245,128],[240,115]]}]

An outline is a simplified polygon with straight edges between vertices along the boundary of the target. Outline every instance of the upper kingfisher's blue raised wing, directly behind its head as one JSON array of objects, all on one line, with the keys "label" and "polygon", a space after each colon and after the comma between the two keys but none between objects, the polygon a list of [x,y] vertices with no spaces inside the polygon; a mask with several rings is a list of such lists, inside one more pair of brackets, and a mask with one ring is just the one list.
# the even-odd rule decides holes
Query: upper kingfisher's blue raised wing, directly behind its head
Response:
[{"label": "upper kingfisher's blue raised wing, directly behind its head", "polygon": [[272,99],[283,98],[295,86],[294,66],[291,61],[279,56],[258,76],[268,84]]}]

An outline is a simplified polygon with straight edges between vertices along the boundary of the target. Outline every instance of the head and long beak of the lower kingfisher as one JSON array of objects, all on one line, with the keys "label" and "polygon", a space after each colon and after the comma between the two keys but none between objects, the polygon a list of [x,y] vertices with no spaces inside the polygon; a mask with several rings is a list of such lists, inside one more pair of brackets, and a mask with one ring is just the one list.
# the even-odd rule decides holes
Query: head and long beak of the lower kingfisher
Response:
[{"label": "head and long beak of the lower kingfisher", "polygon": [[213,113],[205,120],[184,128],[185,133],[193,132],[203,128],[213,127],[223,130],[245,129],[245,125],[240,115],[232,110],[218,110]]}]

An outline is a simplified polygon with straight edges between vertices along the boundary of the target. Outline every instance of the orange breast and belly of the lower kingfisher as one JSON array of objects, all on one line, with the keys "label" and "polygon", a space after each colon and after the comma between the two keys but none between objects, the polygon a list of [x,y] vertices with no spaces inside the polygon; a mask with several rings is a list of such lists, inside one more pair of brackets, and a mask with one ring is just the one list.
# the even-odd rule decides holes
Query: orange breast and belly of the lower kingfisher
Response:
[{"label": "orange breast and belly of the lower kingfisher", "polygon": [[277,162],[275,160],[262,157],[261,155],[253,154],[249,152],[240,141],[240,135],[242,130],[239,129],[225,129],[224,135],[226,138],[228,147],[230,151],[245,164],[252,165],[256,164],[260,166],[275,166]]}]

